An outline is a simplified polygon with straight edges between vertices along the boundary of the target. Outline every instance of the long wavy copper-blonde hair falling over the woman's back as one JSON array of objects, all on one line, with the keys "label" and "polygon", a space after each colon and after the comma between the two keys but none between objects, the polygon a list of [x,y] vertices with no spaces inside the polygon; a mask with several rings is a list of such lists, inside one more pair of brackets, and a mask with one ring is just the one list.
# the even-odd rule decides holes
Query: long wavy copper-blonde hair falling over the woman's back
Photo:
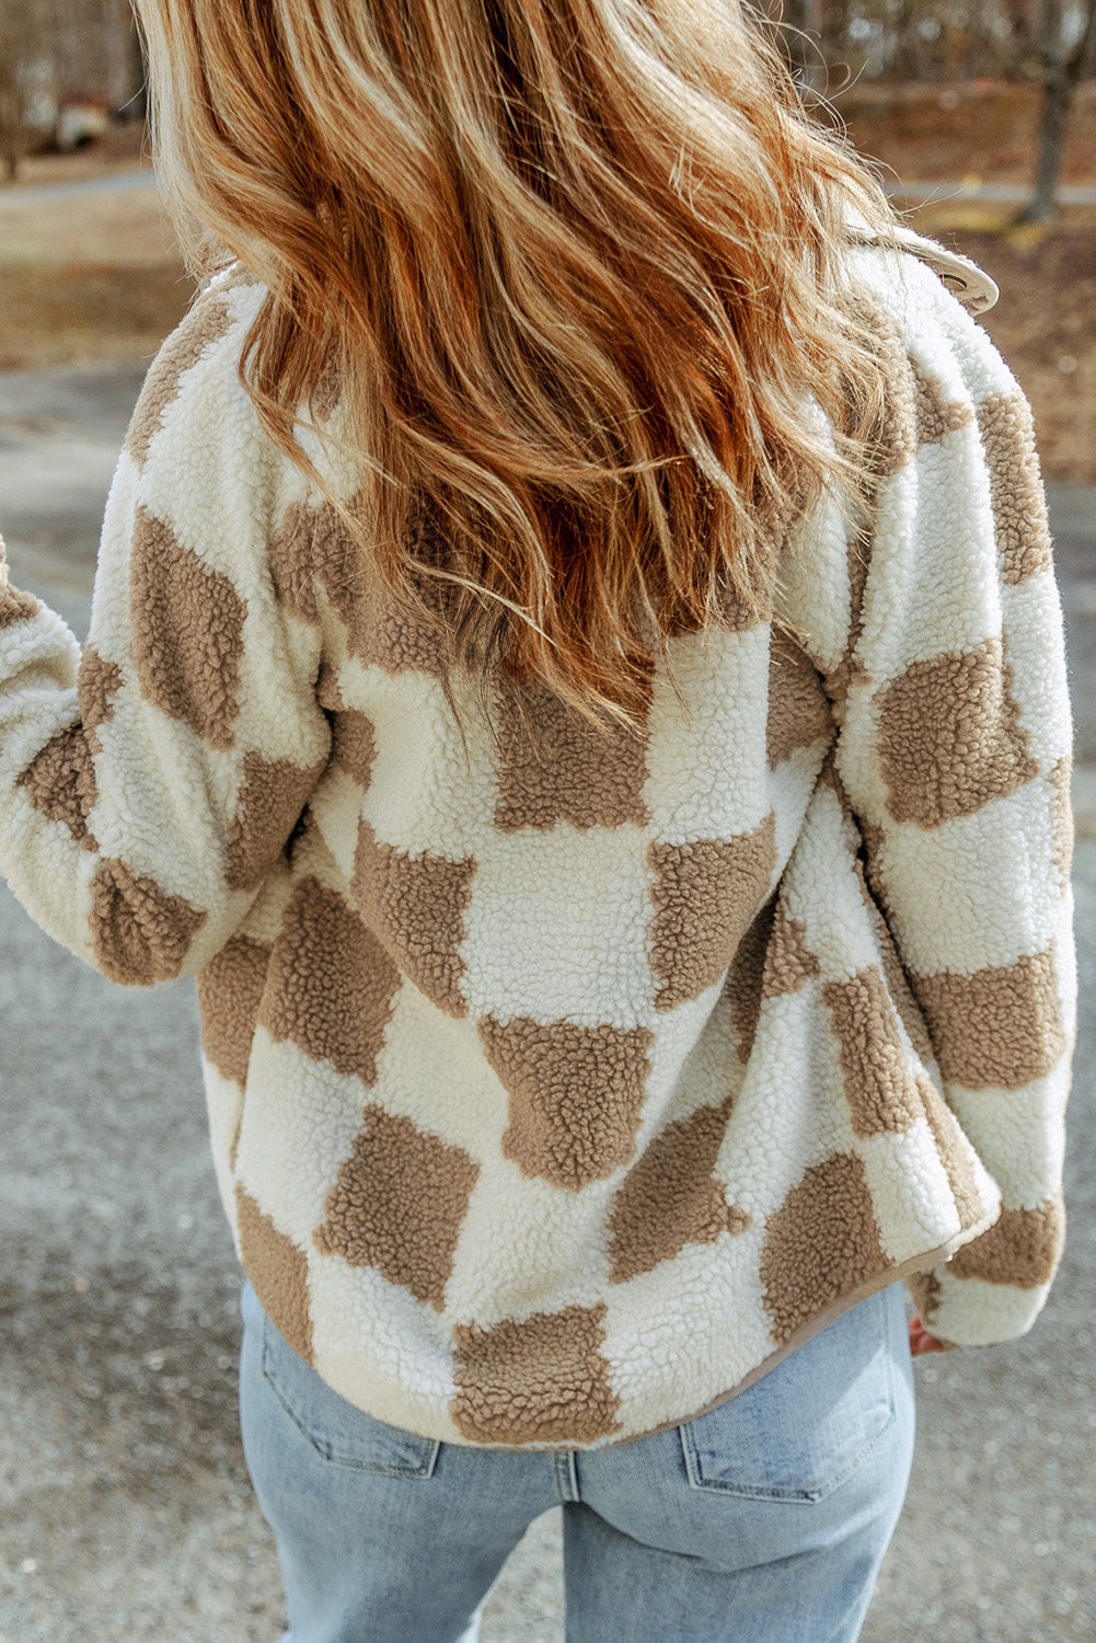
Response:
[{"label": "long wavy copper-blonde hair falling over the woman's back", "polygon": [[634,728],[670,636],[771,614],[795,516],[871,465],[845,251],[891,210],[748,5],[138,12],[191,268],[265,286],[242,375],[320,490],[302,426],[350,429],[329,499],[450,705],[496,664]]}]

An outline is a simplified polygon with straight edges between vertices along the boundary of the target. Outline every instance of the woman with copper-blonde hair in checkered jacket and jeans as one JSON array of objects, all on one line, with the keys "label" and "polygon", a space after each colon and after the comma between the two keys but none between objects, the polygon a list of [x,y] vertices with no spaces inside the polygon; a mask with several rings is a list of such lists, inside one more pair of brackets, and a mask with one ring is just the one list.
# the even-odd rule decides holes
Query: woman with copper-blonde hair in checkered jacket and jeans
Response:
[{"label": "woman with copper-blonde hair in checkered jacket and jeans", "polygon": [[204,286],[82,651],[0,559],[0,869],[197,978],[286,1643],[472,1643],[560,1500],[572,1643],[853,1643],[914,1352],[1065,1239],[1071,718],[979,276],[731,0],[140,10]]}]

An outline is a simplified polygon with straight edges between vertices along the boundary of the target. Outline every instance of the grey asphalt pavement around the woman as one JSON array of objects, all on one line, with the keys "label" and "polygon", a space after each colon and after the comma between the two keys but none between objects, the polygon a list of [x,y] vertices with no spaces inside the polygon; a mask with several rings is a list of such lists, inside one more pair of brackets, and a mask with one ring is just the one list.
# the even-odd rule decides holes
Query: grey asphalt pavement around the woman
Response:
[{"label": "grey asphalt pavement around the woman", "polygon": [[[12,575],[81,637],[140,378],[0,376]],[[915,1360],[914,1475],[863,1643],[1096,1638],[1096,488],[1052,486],[1050,501],[1076,720],[1066,1252],[1024,1339]],[[281,1585],[238,1439],[240,1273],[194,987],[110,986],[0,886],[0,1643],[274,1643]],[[511,1554],[481,1643],[562,1638],[554,1510]],[[685,1617],[667,1643],[688,1643]]]}]

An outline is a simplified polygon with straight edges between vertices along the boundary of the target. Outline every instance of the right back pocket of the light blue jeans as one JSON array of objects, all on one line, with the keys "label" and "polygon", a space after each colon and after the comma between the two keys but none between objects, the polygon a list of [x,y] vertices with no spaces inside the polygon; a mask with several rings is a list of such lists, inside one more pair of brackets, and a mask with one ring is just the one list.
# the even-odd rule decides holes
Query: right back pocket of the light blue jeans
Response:
[{"label": "right back pocket of the light blue jeans", "polygon": [[693,1489],[751,1500],[823,1500],[879,1447],[897,1418],[879,1290],[827,1324],[744,1392],[679,1428]]}]

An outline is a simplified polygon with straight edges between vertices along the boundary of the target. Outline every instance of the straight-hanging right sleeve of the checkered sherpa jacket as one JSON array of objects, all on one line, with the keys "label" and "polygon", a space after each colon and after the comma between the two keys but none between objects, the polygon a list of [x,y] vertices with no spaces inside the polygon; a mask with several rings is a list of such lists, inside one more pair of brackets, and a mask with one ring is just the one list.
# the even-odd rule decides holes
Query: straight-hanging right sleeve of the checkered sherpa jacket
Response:
[{"label": "straight-hanging right sleeve of the checkered sherpa jacket", "polygon": [[[1076,1035],[1071,708],[1032,417],[914,258],[873,253],[891,383],[869,539],[848,554],[835,771],[996,1222],[907,1278],[950,1346],[1025,1334],[1065,1244]],[[835,659],[836,660],[836,659]]]}]

